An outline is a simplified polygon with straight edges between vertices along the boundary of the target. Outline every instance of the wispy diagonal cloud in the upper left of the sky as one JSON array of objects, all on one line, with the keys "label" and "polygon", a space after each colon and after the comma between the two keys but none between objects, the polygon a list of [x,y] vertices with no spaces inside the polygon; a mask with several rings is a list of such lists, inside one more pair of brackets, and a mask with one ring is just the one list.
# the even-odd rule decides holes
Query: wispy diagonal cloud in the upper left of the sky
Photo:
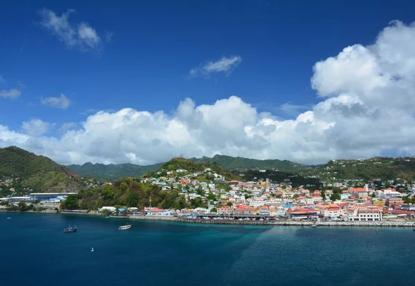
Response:
[{"label": "wispy diagonal cloud in the upper left of the sky", "polygon": [[82,51],[100,50],[102,40],[96,30],[89,23],[80,22],[73,24],[69,22],[69,15],[75,10],[68,10],[61,16],[48,9],[39,11],[42,21],[40,25],[55,35],[59,41],[64,42],[68,48],[77,48]]}]

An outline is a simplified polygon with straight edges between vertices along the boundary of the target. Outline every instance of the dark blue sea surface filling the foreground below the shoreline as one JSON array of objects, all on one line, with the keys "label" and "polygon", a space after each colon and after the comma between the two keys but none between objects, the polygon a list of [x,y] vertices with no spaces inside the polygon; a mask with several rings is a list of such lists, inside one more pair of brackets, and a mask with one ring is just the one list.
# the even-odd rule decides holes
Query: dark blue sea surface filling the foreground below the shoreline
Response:
[{"label": "dark blue sea surface filling the foreground below the shoreline", "polygon": [[415,285],[411,228],[125,222],[0,213],[0,285]]}]

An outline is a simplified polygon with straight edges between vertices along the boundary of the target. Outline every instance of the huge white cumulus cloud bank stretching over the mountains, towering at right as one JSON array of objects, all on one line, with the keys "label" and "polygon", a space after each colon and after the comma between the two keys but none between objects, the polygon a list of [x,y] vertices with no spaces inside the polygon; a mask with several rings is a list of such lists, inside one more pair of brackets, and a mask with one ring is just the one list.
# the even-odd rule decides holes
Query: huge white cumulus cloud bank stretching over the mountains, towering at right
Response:
[{"label": "huge white cumulus cloud bank stretching over the mountains, towering at right", "polygon": [[60,137],[0,126],[0,146],[21,146],[64,164],[150,164],[216,153],[310,164],[390,150],[415,155],[414,41],[415,25],[395,21],[373,45],[350,46],[319,61],[311,84],[321,102],[293,120],[259,113],[236,96],[201,105],[185,99],[172,115],[100,111]]}]

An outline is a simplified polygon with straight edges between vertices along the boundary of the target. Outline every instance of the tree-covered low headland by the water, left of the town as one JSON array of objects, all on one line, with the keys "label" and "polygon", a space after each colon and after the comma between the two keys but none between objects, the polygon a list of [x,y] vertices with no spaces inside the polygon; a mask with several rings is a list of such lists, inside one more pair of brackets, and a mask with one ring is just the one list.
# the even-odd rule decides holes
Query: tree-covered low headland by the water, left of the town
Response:
[{"label": "tree-covered low headland by the water, left of the town", "polygon": [[201,198],[186,202],[185,196],[178,191],[162,191],[160,187],[152,184],[138,182],[137,179],[123,178],[114,184],[106,184],[104,187],[82,190],[77,195],[68,196],[62,202],[62,209],[89,209],[98,210],[104,206],[115,207],[149,207],[151,194],[151,206],[163,209],[182,209],[185,207],[205,206]]}]

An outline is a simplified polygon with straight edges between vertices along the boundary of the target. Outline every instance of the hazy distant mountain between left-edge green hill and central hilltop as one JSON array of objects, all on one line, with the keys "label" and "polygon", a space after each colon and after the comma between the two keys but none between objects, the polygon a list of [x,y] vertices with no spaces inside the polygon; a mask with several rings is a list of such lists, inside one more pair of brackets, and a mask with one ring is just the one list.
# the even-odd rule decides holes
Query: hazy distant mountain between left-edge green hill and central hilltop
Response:
[{"label": "hazy distant mountain between left-edge green hill and central hilltop", "polygon": [[92,164],[87,162],[83,165],[68,165],[67,167],[75,173],[91,175],[93,178],[112,182],[121,177],[141,177],[150,171],[156,170],[163,163],[140,166],[136,164]]}]

